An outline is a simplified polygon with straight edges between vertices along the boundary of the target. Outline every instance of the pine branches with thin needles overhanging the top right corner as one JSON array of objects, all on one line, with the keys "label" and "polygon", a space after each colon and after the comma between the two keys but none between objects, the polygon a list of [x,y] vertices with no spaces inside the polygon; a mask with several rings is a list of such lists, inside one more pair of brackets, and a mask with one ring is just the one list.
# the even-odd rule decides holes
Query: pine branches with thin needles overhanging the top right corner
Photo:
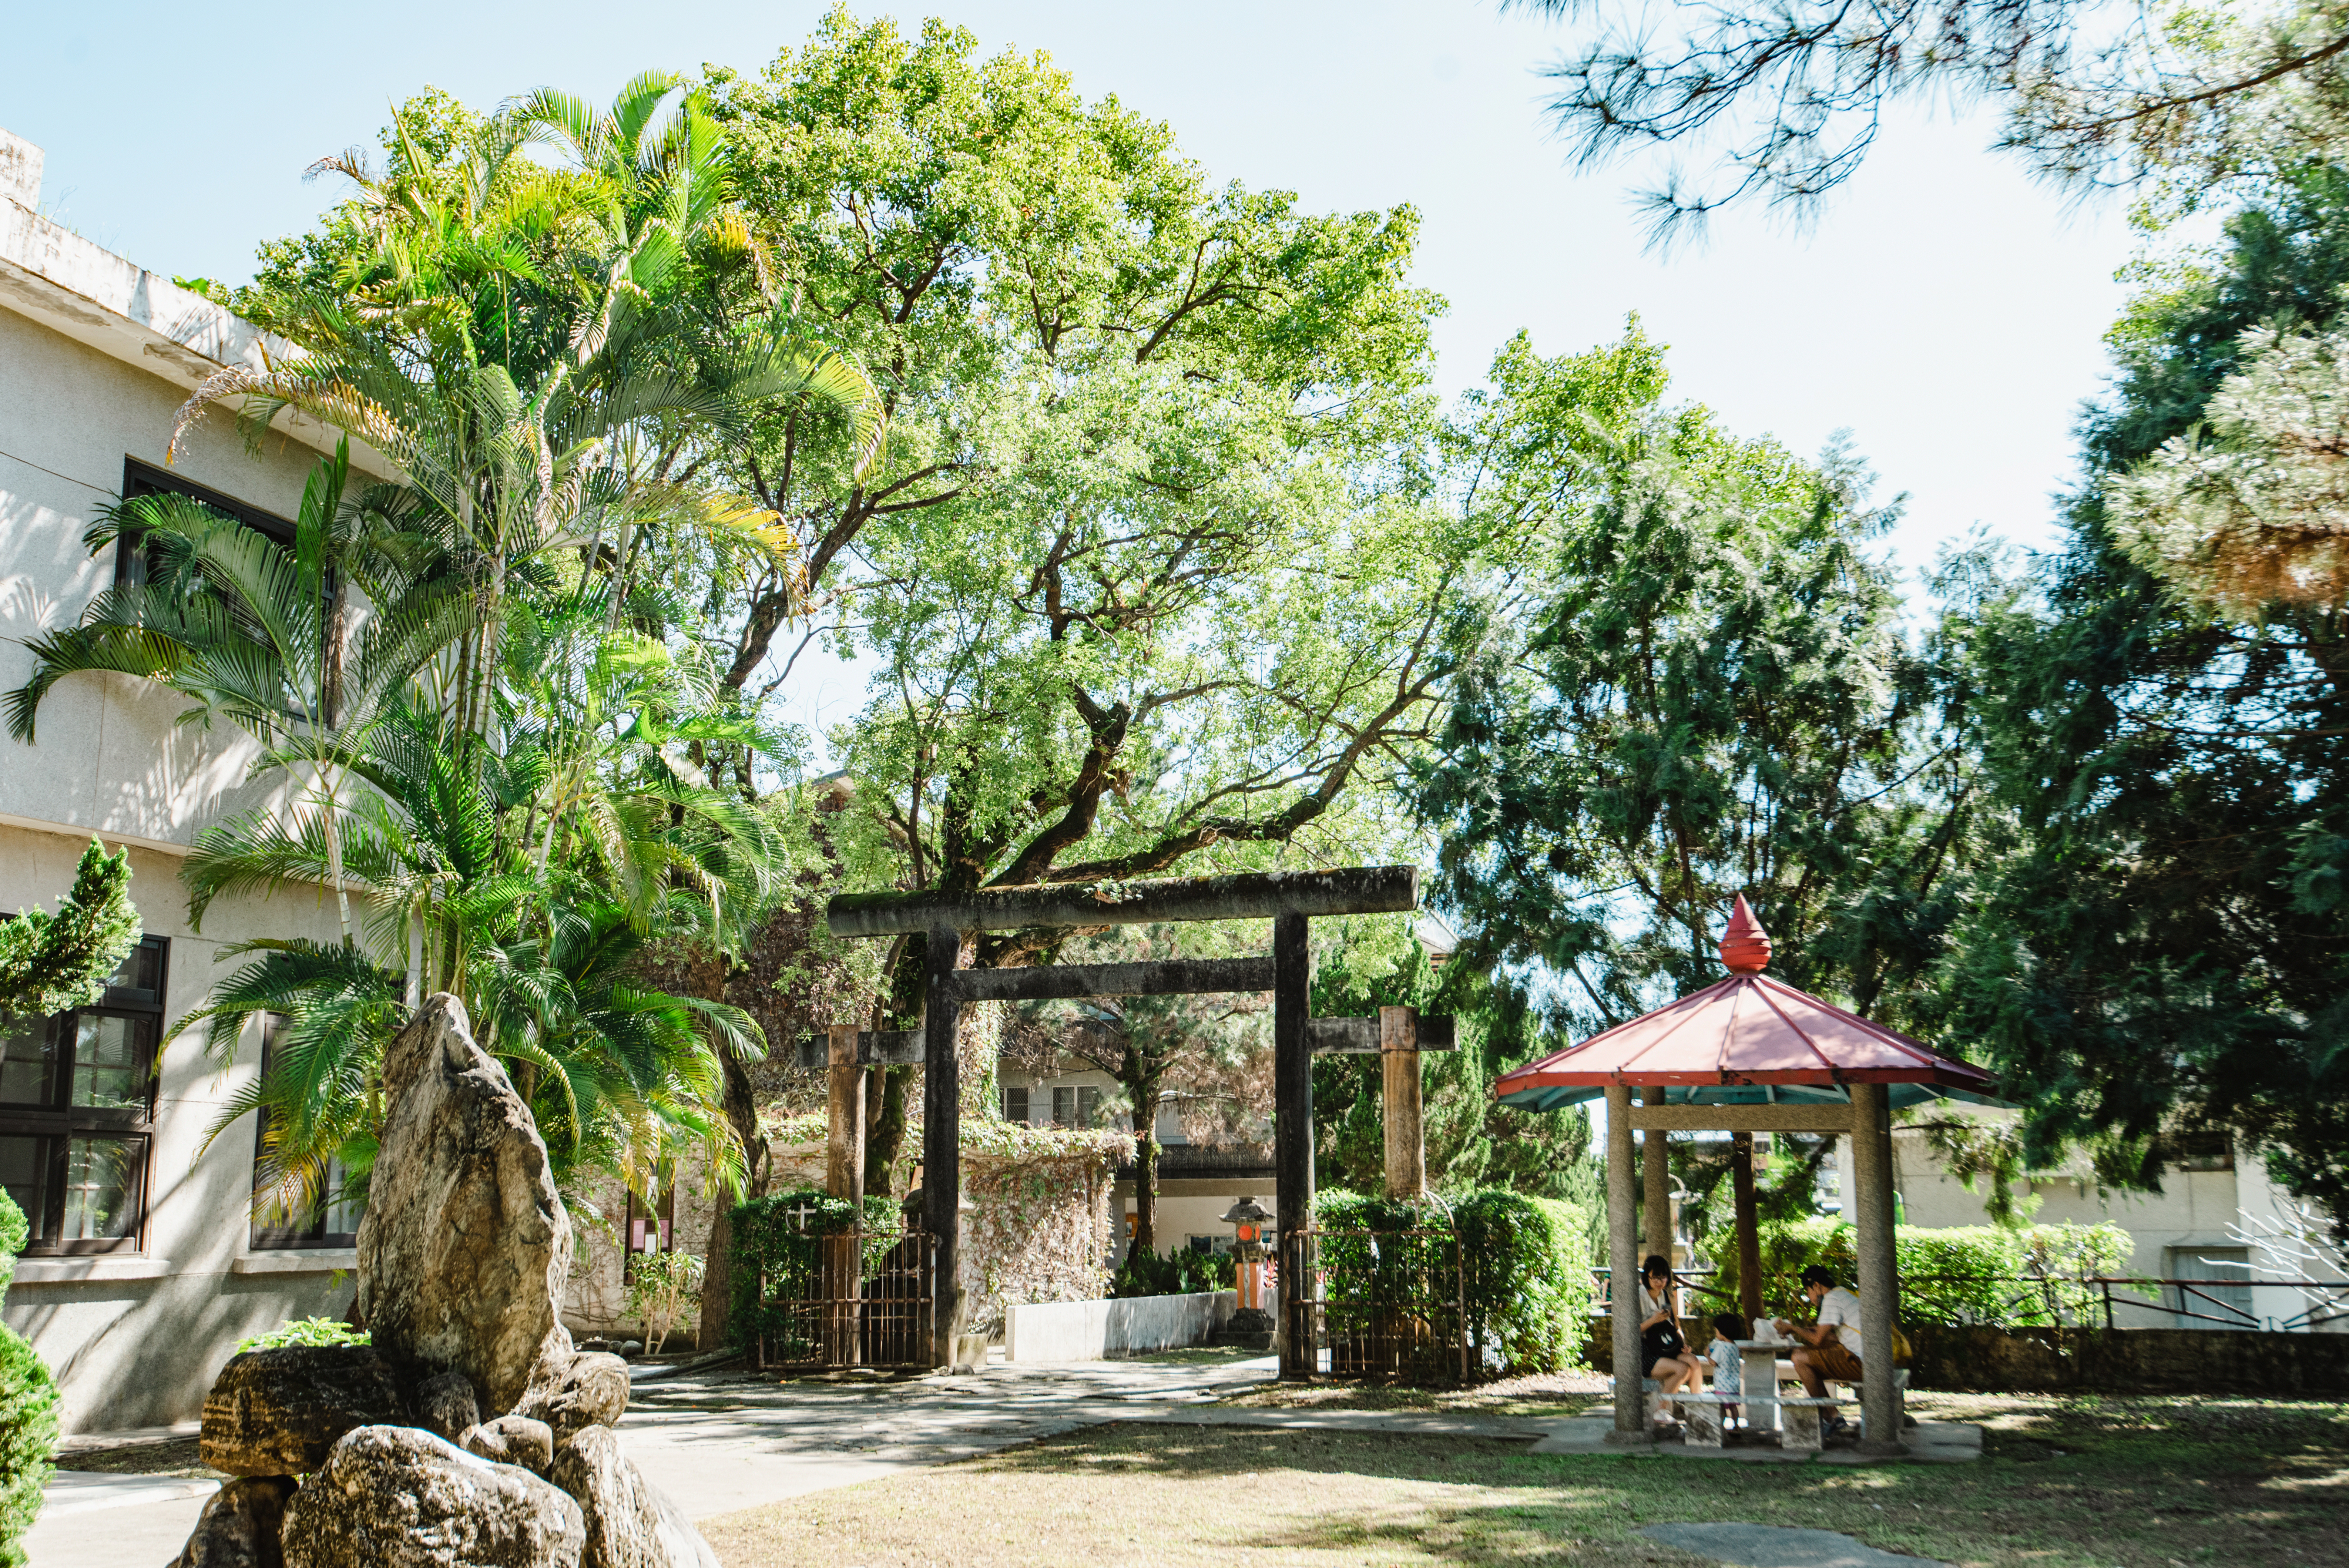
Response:
[{"label": "pine branches with thin needles overhanging the top right corner", "polygon": [[1503,0],[1597,16],[1548,68],[1550,113],[1586,164],[1703,143],[1717,164],[1672,176],[1644,207],[1658,235],[1741,197],[1804,211],[1851,178],[1903,99],[1990,101],[1999,148],[2062,183],[2159,181],[2192,209],[2239,176],[2290,169],[2340,141],[2349,7],[2079,0],[1795,0],[1689,7],[1656,28],[1640,7]]}]

